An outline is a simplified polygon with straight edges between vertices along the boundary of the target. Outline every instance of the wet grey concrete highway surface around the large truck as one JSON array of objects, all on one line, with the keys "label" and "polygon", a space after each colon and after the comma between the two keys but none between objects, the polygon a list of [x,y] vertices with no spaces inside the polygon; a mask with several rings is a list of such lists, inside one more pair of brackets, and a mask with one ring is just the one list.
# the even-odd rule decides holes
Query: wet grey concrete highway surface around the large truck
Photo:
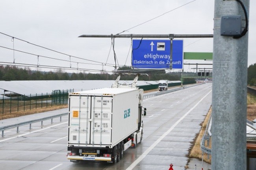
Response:
[{"label": "wet grey concrete highway surface around the large truck", "polygon": [[[184,170],[191,142],[211,106],[212,84],[202,84],[173,93],[145,99],[143,141],[129,148],[115,165],[105,162],[71,163],[67,155],[67,116],[21,126],[0,137],[1,170]],[[67,112],[67,110],[61,110]],[[51,111],[52,113],[56,111]],[[40,113],[44,114],[44,113]],[[46,113],[45,113],[46,114]],[[5,126],[18,118],[0,121]],[[33,115],[26,116],[35,119]],[[4,124],[4,125],[3,125]]]}]

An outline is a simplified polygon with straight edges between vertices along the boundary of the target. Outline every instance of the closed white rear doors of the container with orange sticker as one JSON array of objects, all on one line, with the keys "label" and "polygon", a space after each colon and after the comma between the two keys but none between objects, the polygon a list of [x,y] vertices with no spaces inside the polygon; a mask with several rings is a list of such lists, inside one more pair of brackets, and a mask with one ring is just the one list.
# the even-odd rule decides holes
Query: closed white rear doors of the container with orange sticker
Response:
[{"label": "closed white rear doors of the container with orange sticker", "polygon": [[111,145],[111,96],[70,95],[69,105],[69,144]]}]

